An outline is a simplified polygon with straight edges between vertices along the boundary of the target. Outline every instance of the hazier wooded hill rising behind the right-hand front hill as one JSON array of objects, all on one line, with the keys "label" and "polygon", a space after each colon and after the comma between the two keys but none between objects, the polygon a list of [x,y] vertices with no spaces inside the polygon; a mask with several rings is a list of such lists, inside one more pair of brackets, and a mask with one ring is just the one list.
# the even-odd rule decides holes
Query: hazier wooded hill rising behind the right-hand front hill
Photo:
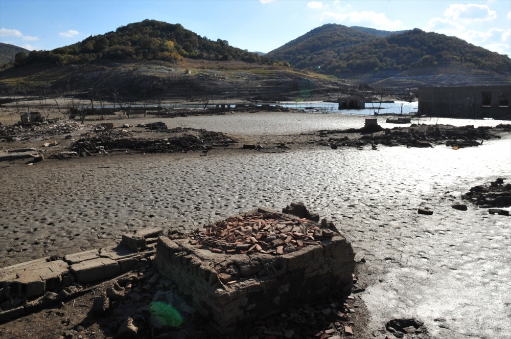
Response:
[{"label": "hazier wooded hill rising behind the right-hand front hill", "polygon": [[287,61],[299,68],[299,65],[304,61],[307,62],[307,59],[315,53],[333,47],[349,47],[377,38],[377,35],[364,33],[350,27],[326,24],[289,41],[284,46],[267,53],[266,56]]}]

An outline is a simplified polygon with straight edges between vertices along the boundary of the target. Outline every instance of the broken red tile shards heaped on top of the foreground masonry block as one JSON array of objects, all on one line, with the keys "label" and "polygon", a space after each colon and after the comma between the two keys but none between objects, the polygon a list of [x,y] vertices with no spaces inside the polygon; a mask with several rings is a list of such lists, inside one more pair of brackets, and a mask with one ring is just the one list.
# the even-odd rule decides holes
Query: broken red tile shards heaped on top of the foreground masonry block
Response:
[{"label": "broken red tile shards heaped on top of the foreground masonry block", "polygon": [[[326,220],[325,220],[326,223]],[[254,213],[215,222],[190,234],[190,244],[215,253],[284,255],[335,235],[305,218]]]}]

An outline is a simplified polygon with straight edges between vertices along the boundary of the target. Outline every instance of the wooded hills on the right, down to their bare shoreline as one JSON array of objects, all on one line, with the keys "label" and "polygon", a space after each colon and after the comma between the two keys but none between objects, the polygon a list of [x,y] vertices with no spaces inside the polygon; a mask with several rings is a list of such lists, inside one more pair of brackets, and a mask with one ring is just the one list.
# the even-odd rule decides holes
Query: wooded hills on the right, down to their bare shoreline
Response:
[{"label": "wooded hills on the right, down to their bare shoreline", "polygon": [[[353,31],[357,33],[349,36]],[[383,34],[381,32],[385,31],[379,32]],[[330,41],[323,41],[329,36]],[[310,46],[317,48],[310,49]],[[491,75],[498,82],[509,82],[511,73],[511,60],[506,55],[456,37],[420,29],[379,37],[341,25],[324,25],[267,56],[288,61],[298,69],[340,78],[370,79],[368,81],[373,83],[400,74],[408,77],[410,83],[417,82],[417,85],[423,84],[421,79],[425,76],[442,74],[476,75],[469,77],[470,81]],[[469,81],[468,78],[451,77],[447,84],[466,81]]]}]

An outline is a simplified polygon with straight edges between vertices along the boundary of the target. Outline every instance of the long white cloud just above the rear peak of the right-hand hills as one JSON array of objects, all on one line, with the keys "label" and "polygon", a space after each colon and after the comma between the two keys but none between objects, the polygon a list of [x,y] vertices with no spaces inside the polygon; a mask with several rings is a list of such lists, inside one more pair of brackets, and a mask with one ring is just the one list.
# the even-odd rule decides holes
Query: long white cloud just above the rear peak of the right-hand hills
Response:
[{"label": "long white cloud just above the rear peak of the right-hand hills", "polygon": [[351,13],[334,13],[324,12],[321,14],[321,21],[335,20],[353,24],[356,26],[364,26],[383,30],[396,30],[401,26],[400,20],[389,20],[385,13],[367,12],[351,12]]}]

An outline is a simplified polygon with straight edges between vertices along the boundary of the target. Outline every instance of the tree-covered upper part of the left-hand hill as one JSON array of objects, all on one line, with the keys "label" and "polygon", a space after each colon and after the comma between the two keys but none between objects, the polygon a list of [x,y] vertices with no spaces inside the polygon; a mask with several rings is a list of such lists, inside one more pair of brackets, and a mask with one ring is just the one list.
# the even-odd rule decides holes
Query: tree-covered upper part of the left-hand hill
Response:
[{"label": "tree-covered upper part of the left-hand hill", "polygon": [[52,51],[32,51],[26,58],[19,58],[16,65],[34,62],[66,65],[100,59],[172,61],[183,57],[271,63],[267,57],[231,47],[226,40],[202,37],[180,24],[144,20]]}]

